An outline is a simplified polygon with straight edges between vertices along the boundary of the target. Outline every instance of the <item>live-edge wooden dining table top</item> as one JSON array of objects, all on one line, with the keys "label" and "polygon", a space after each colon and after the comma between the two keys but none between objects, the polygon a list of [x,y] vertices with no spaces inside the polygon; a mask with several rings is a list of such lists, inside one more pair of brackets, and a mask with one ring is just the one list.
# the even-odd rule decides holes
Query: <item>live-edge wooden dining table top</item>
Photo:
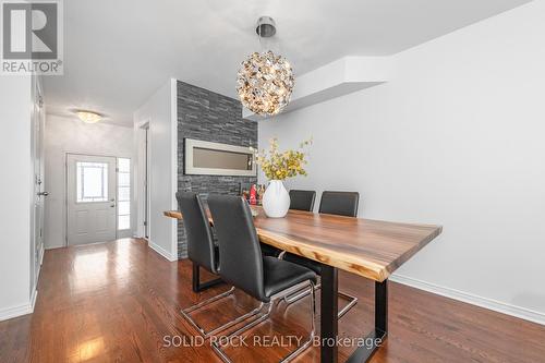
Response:
[{"label": "live-edge wooden dining table top", "polygon": [[[376,280],[391,273],[441,232],[441,227],[398,223],[290,210],[284,218],[267,218],[259,207],[254,218],[263,243],[325,265]],[[165,211],[182,218],[178,210]]]}]

